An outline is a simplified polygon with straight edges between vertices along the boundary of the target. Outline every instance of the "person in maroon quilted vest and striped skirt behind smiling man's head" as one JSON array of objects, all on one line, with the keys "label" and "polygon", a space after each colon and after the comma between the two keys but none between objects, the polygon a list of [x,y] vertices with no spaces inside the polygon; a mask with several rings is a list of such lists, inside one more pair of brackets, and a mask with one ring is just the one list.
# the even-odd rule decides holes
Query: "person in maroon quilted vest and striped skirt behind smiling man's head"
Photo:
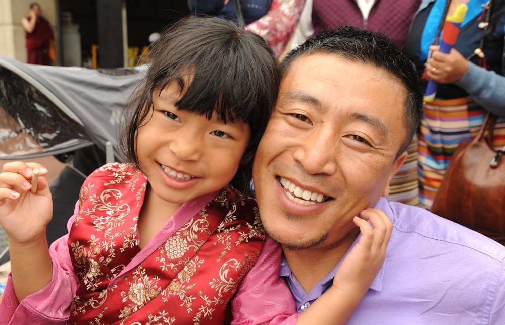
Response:
[{"label": "person in maroon quilted vest and striped skirt behind smiling man's head", "polygon": [[[291,45],[301,44],[323,30],[351,25],[388,35],[400,48],[421,0],[306,0]],[[419,206],[417,138],[407,148],[408,156],[391,179],[387,199]]]}]

